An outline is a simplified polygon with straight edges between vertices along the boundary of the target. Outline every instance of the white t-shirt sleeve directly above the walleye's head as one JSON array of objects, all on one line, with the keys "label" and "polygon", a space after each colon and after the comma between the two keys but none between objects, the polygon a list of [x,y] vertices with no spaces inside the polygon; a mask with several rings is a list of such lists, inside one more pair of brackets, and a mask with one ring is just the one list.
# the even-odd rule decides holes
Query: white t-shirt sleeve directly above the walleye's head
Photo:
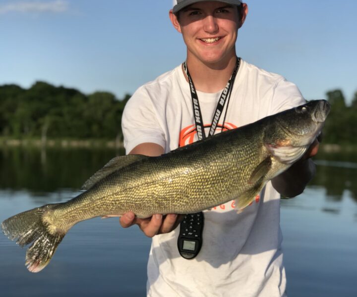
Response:
[{"label": "white t-shirt sleeve directly above the walleye's head", "polygon": [[306,103],[299,89],[292,82],[282,78],[275,86],[271,114],[275,114]]}]

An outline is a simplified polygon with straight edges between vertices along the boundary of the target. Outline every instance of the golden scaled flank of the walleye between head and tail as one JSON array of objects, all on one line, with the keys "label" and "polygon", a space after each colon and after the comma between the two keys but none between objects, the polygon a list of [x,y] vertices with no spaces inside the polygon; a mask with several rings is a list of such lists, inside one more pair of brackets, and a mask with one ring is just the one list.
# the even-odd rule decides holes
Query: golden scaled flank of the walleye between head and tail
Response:
[{"label": "golden scaled flank of the walleye between head and tail", "polygon": [[127,211],[139,217],[192,213],[232,200],[250,187],[247,180],[252,168],[268,155],[261,153],[265,148],[252,149],[262,147],[262,135],[257,137],[262,127],[248,128],[222,135],[224,143],[220,138],[207,139],[207,147],[198,144],[124,167],[73,199],[73,203],[61,205],[55,211],[55,220],[60,222],[65,217],[68,223],[63,211],[72,213],[73,223]]}]

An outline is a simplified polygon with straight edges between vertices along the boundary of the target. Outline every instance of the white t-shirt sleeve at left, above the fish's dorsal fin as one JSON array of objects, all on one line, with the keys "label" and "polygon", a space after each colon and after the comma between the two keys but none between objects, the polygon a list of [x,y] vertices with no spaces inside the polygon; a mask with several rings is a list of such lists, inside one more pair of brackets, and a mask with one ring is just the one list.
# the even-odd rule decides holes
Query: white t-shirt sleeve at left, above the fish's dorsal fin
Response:
[{"label": "white t-shirt sleeve at left, above the fish's dorsal fin", "polygon": [[165,148],[165,134],[161,128],[150,96],[137,90],[125,105],[121,118],[124,148],[129,153],[142,143],[155,143]]}]

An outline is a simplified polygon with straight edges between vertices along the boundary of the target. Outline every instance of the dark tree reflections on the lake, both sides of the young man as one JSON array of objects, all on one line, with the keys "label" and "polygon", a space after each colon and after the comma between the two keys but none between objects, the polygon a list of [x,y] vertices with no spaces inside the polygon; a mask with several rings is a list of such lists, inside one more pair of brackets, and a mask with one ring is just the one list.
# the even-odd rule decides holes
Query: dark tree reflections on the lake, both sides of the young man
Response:
[{"label": "dark tree reflections on the lake, both sides of the young man", "polygon": [[[2,148],[0,189],[26,189],[36,195],[78,190],[95,171],[123,153],[108,148],[49,148],[45,152],[37,148]],[[310,186],[324,187],[326,199],[332,201],[341,201],[348,190],[357,202],[356,154],[322,153],[316,163],[316,176]]]}]

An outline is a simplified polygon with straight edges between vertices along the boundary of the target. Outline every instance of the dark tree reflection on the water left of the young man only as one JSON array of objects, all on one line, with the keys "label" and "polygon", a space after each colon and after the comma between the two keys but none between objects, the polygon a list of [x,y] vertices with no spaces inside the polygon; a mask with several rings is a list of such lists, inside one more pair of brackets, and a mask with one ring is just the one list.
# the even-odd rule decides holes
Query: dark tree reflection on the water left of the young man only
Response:
[{"label": "dark tree reflection on the water left of the young man only", "polygon": [[96,170],[123,151],[114,149],[37,148],[0,149],[0,189],[31,193],[79,189]]}]

